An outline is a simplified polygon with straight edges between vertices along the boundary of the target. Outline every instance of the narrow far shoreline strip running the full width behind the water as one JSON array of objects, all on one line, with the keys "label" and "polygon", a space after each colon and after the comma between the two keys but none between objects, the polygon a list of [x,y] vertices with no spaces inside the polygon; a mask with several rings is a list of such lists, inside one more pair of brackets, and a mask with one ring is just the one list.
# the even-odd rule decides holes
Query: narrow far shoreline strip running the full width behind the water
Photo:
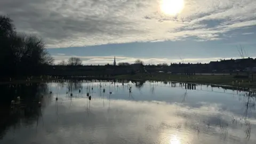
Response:
[{"label": "narrow far shoreline strip running the full width behind the water", "polygon": [[[66,78],[64,78],[66,79]],[[71,78],[73,79],[73,78]],[[191,83],[229,87],[230,89],[250,90],[256,92],[256,82],[249,82],[248,79],[234,78],[234,75],[173,75],[173,74],[135,74],[117,75],[112,77],[74,77],[74,79],[127,79],[133,81],[169,81],[174,83]],[[34,79],[13,79],[13,81],[3,81],[0,84],[26,84],[26,83],[47,83],[51,81],[61,81],[60,78],[35,77]]]}]

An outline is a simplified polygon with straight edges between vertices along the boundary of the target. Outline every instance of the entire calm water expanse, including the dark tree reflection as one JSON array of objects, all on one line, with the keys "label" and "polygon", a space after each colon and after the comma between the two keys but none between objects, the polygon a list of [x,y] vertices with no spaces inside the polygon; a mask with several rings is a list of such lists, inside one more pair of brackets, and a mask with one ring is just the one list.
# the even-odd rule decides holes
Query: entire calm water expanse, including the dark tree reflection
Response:
[{"label": "entire calm water expanse, including the dark tree reflection", "polygon": [[130,81],[0,89],[0,143],[256,143],[249,92]]}]

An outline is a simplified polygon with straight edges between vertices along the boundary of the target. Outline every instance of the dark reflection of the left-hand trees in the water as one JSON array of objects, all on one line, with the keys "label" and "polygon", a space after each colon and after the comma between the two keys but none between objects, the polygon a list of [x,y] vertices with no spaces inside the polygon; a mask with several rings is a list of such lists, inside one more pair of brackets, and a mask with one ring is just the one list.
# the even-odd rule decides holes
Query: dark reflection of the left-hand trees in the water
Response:
[{"label": "dark reflection of the left-hand trees in the water", "polygon": [[[46,83],[10,84],[0,85],[0,139],[7,129],[15,129],[22,125],[31,125],[42,115],[41,109],[45,108],[52,99]],[[11,107],[11,101],[17,101]],[[42,107],[38,106],[38,102]]]}]

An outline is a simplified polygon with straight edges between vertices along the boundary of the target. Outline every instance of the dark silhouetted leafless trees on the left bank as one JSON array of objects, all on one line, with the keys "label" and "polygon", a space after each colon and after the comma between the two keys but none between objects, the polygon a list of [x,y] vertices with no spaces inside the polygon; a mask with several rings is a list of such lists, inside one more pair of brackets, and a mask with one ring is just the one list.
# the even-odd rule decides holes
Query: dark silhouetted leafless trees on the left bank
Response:
[{"label": "dark silhouetted leafless trees on the left bank", "polygon": [[42,39],[17,33],[13,21],[0,15],[0,77],[39,75],[52,63]]}]

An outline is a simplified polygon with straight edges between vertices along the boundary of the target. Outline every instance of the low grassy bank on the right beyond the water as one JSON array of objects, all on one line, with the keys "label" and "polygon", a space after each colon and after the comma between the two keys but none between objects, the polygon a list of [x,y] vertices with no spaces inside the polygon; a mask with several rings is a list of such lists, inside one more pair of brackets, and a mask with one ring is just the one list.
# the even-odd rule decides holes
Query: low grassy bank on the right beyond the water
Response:
[{"label": "low grassy bank on the right beyond the water", "polygon": [[234,75],[191,75],[189,77],[188,75],[172,75],[172,74],[135,74],[135,75],[119,75],[119,76],[116,76],[116,78],[229,85],[229,86],[237,86],[237,87],[245,87],[245,88],[250,87],[252,89],[256,89],[256,82],[249,82],[249,79],[247,78],[234,78]]}]

